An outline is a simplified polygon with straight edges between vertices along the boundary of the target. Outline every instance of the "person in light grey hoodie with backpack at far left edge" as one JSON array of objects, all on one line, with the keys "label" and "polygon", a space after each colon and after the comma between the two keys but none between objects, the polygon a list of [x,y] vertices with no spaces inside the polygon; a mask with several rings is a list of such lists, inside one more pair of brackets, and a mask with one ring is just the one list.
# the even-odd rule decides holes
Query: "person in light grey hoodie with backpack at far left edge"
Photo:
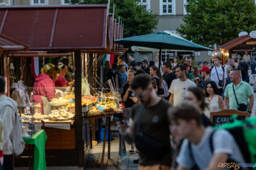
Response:
[{"label": "person in light grey hoodie with backpack at far left edge", "polygon": [[22,139],[22,125],[17,114],[17,103],[4,95],[6,81],[0,76],[0,118],[4,130],[4,169],[13,169],[13,155],[23,152],[25,143]]}]

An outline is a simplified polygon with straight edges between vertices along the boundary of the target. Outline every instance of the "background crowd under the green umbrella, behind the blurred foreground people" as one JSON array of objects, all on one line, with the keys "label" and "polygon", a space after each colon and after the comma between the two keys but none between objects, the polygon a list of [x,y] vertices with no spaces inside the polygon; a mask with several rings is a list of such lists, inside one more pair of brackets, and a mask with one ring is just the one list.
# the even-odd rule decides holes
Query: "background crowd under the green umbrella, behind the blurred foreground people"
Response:
[{"label": "background crowd under the green umbrella, behind the blurred foreground people", "polygon": [[[247,60],[248,57],[246,56],[244,59]],[[184,63],[179,63],[177,57],[174,57],[173,62],[162,62],[161,68],[158,68],[158,55],[155,55],[155,60],[150,62],[148,62],[147,57],[137,62],[134,55],[129,55],[129,67],[126,66],[127,63],[122,57],[118,59],[119,65],[113,64],[112,68],[108,61],[105,63],[106,79],[112,79],[112,76],[118,75],[122,94],[126,94],[132,81],[132,79],[130,81],[127,79],[127,75],[130,73],[130,75],[135,76],[137,71],[143,71],[151,76],[156,94],[169,100],[174,106],[184,101],[185,93],[189,87],[198,87],[203,90],[204,100],[208,103],[208,107],[205,108],[207,113],[220,111],[224,108],[248,111],[249,115],[252,111],[256,82],[256,59],[248,63],[241,57],[236,67],[234,59],[228,59],[225,65],[221,65],[220,57],[214,57],[210,66],[208,62],[201,61],[197,65],[192,65],[193,61],[190,56],[186,57]],[[249,84],[248,70],[252,70],[254,89]],[[132,99],[136,100],[134,97]],[[242,104],[246,105],[247,108],[239,107]],[[209,114],[207,115],[209,117]]]}]

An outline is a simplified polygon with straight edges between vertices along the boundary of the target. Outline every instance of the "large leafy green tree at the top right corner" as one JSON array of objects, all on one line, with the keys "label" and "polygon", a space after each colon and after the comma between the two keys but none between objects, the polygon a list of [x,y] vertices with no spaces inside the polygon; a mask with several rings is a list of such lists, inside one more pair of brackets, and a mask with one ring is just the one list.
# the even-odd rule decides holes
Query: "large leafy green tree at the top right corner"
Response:
[{"label": "large leafy green tree at the top right corner", "polygon": [[177,31],[186,39],[205,46],[224,44],[239,32],[256,29],[253,0],[190,0],[189,13]]}]

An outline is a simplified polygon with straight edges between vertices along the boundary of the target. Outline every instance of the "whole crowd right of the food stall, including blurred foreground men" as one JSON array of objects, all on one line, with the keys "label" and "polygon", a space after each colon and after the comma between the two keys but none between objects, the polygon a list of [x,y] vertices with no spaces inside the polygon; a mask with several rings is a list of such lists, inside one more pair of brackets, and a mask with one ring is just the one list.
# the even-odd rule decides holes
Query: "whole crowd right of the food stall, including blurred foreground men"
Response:
[{"label": "whole crowd right of the food stall, including blurred foreground men", "polygon": [[[129,59],[132,66],[122,91],[126,121],[118,126],[131,149],[135,144],[140,152],[139,169],[221,169],[218,164],[230,158],[245,163],[233,136],[211,127],[210,112],[234,109],[251,115],[256,59],[251,62],[245,54],[226,64],[214,57],[211,65],[192,65],[190,56],[184,63],[174,57],[160,68],[157,55],[150,62],[136,62],[133,55]],[[252,70],[254,87],[248,70]]]}]

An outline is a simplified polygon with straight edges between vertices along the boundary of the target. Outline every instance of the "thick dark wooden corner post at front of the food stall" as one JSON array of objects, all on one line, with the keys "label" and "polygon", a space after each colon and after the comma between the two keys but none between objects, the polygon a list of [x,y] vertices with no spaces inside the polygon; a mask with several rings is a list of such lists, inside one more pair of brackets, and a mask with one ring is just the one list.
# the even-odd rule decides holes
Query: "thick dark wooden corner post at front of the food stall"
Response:
[{"label": "thick dark wooden corner post at front of the food stall", "polygon": [[84,142],[82,139],[81,51],[75,51],[75,148],[80,167],[84,166]]}]

